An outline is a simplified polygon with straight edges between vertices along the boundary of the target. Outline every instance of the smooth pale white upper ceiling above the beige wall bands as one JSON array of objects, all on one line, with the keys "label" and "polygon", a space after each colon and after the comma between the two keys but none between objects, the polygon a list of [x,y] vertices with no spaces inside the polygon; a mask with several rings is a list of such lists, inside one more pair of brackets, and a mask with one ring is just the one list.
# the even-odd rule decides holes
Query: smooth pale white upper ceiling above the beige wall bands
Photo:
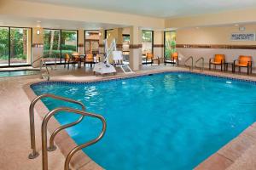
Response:
[{"label": "smooth pale white upper ceiling above the beige wall bands", "polygon": [[256,7],[256,0],[19,0],[173,18]]}]

